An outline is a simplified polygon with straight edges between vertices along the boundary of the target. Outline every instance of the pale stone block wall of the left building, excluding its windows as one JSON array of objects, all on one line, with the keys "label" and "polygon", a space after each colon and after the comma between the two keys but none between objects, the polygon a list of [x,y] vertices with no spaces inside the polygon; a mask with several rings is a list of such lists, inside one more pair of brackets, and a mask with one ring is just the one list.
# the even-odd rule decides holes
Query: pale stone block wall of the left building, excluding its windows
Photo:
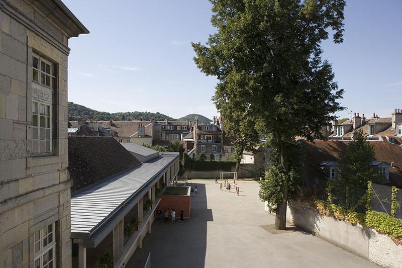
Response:
[{"label": "pale stone block wall of the left building, excluding its windows", "polygon": [[[56,265],[71,267],[69,30],[61,29],[52,11],[44,10],[42,4],[0,0],[0,267],[33,267],[34,233],[52,223]],[[46,4],[56,12],[52,1]],[[57,66],[54,96],[41,96],[54,104],[55,142],[53,152],[46,155],[31,153],[33,51]]]}]

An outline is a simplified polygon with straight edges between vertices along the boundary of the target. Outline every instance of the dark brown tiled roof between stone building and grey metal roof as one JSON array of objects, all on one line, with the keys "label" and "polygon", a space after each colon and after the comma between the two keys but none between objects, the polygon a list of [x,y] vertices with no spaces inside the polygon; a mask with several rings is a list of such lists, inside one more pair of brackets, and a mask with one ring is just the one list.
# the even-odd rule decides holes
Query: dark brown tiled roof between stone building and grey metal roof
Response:
[{"label": "dark brown tiled roof between stone building and grey metal roof", "polygon": [[112,137],[68,137],[68,171],[78,191],[140,162]]}]

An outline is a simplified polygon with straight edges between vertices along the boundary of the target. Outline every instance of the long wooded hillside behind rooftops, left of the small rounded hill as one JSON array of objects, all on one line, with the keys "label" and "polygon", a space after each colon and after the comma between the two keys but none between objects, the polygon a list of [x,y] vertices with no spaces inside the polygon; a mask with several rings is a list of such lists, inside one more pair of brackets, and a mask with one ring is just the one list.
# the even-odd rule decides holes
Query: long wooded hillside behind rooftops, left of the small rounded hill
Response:
[{"label": "long wooded hillside behind rooftops, left of the small rounded hill", "polygon": [[150,112],[119,112],[119,113],[108,113],[99,112],[85,106],[68,102],[68,117],[72,120],[77,120],[78,117],[85,118],[87,120],[110,120],[111,118],[116,121],[129,120],[142,120],[149,121],[154,118],[156,121],[164,121],[168,118],[170,121],[176,121],[176,119],[168,117],[160,113],[150,113]]}]

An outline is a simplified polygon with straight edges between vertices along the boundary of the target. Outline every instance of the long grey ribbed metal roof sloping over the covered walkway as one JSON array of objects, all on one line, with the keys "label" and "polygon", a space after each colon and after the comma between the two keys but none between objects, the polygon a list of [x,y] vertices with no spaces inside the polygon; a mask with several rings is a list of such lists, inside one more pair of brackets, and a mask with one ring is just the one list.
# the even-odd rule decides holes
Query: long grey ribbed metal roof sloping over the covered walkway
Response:
[{"label": "long grey ribbed metal roof sloping over the covered walkway", "polygon": [[178,154],[162,154],[71,197],[71,232],[91,233],[124,201],[162,171]]}]

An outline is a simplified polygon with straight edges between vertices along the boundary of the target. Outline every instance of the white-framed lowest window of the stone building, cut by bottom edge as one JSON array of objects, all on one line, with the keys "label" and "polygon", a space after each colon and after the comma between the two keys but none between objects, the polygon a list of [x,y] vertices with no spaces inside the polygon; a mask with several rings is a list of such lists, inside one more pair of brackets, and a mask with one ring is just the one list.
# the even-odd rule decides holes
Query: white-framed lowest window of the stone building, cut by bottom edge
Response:
[{"label": "white-framed lowest window of the stone building, cut by bottom edge", "polygon": [[35,268],[54,268],[56,266],[54,223],[34,234]]}]

